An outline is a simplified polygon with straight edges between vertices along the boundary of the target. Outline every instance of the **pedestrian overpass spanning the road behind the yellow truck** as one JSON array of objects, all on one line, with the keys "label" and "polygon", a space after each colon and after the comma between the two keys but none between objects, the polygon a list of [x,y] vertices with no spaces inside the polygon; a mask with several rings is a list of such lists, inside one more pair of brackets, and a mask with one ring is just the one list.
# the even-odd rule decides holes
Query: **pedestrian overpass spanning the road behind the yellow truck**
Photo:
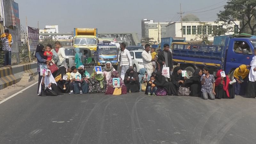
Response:
[{"label": "pedestrian overpass spanning the road behind the yellow truck", "polygon": [[[65,41],[72,42],[73,33],[39,33],[39,38],[43,39],[45,36],[51,36],[53,39],[66,39]],[[60,38],[60,37],[64,38]],[[126,42],[128,45],[137,45],[140,43],[138,33],[98,33],[99,39],[113,39],[116,42]]]}]

